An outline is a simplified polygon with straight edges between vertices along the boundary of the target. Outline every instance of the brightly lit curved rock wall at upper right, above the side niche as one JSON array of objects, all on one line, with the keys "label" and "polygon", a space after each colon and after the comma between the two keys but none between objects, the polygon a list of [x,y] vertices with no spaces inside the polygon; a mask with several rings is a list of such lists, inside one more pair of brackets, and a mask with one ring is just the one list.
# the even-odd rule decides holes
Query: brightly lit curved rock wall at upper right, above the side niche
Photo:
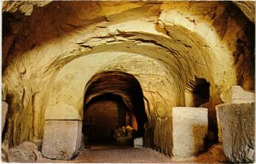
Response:
[{"label": "brightly lit curved rock wall at upper right, above the side niche", "polygon": [[254,35],[254,26],[231,3],[164,3],[161,9],[159,24],[169,35],[182,25],[203,37],[204,46],[215,54],[211,66],[214,78],[213,83],[210,82],[211,98],[204,105],[209,109],[209,125],[215,129],[216,115],[212,107],[221,102],[219,94],[235,83],[254,89],[254,37],[250,37]]}]

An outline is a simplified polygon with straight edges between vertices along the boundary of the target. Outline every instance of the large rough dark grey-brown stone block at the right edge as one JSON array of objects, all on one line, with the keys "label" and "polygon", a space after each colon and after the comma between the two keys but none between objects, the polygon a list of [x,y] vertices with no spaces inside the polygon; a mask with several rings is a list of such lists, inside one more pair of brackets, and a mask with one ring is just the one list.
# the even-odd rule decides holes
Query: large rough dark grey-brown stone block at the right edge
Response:
[{"label": "large rough dark grey-brown stone block at the right edge", "polygon": [[254,161],[254,103],[218,105],[224,154],[233,162]]}]

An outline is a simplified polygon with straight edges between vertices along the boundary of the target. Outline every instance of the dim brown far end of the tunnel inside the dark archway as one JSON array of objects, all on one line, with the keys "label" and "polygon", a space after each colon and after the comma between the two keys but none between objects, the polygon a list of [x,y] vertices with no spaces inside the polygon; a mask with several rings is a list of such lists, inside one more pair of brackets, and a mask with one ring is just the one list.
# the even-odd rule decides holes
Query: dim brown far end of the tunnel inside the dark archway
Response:
[{"label": "dim brown far end of the tunnel inside the dark archway", "polygon": [[137,129],[136,123],[132,123],[131,111],[117,95],[103,94],[84,106],[83,133],[89,141],[113,139],[116,128],[128,125]]}]

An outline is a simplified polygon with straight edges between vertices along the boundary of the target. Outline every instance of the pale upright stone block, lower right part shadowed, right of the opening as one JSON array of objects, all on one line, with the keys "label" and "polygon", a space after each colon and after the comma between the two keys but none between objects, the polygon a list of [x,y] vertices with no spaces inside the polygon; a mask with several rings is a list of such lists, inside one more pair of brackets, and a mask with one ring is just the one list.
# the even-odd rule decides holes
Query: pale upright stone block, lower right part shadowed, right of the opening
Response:
[{"label": "pale upright stone block, lower right part shadowed, right of the opening", "polygon": [[204,147],[207,129],[207,108],[173,107],[173,156],[195,156]]}]

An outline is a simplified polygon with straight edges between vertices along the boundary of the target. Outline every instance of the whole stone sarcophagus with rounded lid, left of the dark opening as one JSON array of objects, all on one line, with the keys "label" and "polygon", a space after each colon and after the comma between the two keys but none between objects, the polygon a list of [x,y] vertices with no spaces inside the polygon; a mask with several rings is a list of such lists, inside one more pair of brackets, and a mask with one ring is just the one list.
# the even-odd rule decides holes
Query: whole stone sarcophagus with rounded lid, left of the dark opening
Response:
[{"label": "whole stone sarcophagus with rounded lid, left of the dark opening", "polygon": [[49,159],[70,160],[79,153],[82,121],[79,110],[60,103],[44,114],[42,154]]}]

